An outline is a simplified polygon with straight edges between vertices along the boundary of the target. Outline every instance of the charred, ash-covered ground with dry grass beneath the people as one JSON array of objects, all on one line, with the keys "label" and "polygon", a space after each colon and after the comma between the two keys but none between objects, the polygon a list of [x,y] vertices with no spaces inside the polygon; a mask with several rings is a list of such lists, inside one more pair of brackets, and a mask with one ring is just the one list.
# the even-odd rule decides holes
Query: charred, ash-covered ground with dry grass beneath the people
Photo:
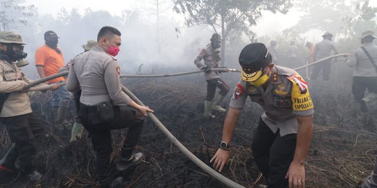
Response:
[{"label": "charred, ash-covered ground with dry grass beneath the people", "polygon": [[[228,109],[230,95],[237,77],[231,80],[231,91],[223,102]],[[206,83],[202,75],[186,78],[127,79],[124,84],[142,102],[154,109],[156,117],[181,141],[188,150],[209,164],[221,141],[226,114],[216,118],[202,118]],[[358,187],[371,173],[374,165],[376,133],[371,122],[357,123],[352,115],[350,87],[328,86],[321,81],[311,82],[310,92],[316,106],[313,140],[306,159],[307,187]],[[342,92],[339,92],[342,91]],[[69,143],[71,126],[54,125],[50,107],[50,92],[30,93],[34,112],[45,121],[48,135],[37,141],[36,164],[44,177],[29,182],[17,177],[0,187],[97,187],[94,172],[94,150],[89,139]],[[254,130],[262,113],[257,104],[246,102],[231,143],[230,162],[223,175],[245,187],[263,183],[253,162],[250,146]],[[73,123],[73,117],[71,117]],[[116,162],[124,139],[113,132],[113,162]],[[3,126],[0,127],[1,156],[10,146]],[[85,134],[87,134],[85,132]],[[147,120],[137,151],[145,153],[142,164],[135,171],[124,172],[124,182],[118,187],[225,187],[193,164],[170,140]]]}]

